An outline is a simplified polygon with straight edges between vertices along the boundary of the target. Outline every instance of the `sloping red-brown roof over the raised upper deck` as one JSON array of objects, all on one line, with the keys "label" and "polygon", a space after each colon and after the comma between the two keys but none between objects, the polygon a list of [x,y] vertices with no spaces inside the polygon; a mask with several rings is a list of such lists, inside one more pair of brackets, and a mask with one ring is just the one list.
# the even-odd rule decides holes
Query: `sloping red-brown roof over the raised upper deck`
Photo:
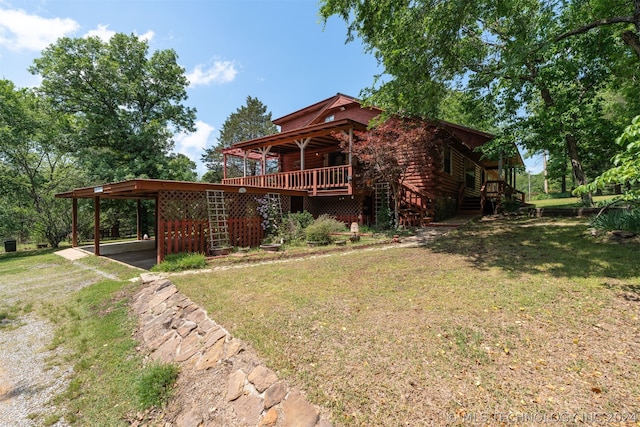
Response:
[{"label": "sloping red-brown roof over the raised upper deck", "polygon": [[335,144],[336,140],[331,136],[331,134],[333,132],[349,130],[350,128],[353,128],[354,130],[366,130],[367,125],[352,119],[341,119],[332,122],[319,123],[293,129],[287,132],[280,132],[273,135],[263,136],[261,138],[237,142],[230,148],[223,150],[223,153],[235,155],[237,150],[256,150],[268,146],[272,147],[271,153],[283,154],[296,152],[299,151],[299,148],[293,143],[296,140],[306,138],[311,138],[307,148],[313,149]]}]

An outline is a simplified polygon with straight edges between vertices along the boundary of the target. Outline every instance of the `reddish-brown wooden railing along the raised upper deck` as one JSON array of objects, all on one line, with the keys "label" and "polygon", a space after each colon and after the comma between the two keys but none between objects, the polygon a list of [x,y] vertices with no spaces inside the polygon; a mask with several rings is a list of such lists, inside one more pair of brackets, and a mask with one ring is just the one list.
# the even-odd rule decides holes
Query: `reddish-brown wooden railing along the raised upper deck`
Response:
[{"label": "reddish-brown wooden railing along the raised upper deck", "polygon": [[268,175],[244,176],[223,179],[223,184],[246,185],[249,187],[280,188],[286,190],[310,191],[313,195],[322,191],[345,190],[352,194],[351,166],[307,169],[292,172],[278,172]]}]

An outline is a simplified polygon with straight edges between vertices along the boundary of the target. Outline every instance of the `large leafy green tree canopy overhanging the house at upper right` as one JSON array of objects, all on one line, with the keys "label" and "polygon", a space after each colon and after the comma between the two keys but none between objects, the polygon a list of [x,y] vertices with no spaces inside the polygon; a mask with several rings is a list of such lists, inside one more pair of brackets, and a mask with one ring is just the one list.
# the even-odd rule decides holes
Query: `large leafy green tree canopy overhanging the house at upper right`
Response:
[{"label": "large leafy green tree canopy overhanging the house at upper right", "polygon": [[[576,34],[567,29],[597,21],[598,14],[640,16],[638,1],[605,7],[609,3],[323,0],[321,15],[341,16],[347,40],[360,36],[383,65],[387,81],[376,79],[363,91],[368,102],[439,118],[448,91],[461,88],[498,112],[500,133],[490,148],[515,138],[531,151],[566,155],[576,182],[584,184],[583,156],[593,152],[585,144],[610,141],[610,126],[592,127],[605,119],[600,94],[628,75],[623,64],[629,52],[612,42],[612,27]],[[590,203],[588,194],[583,198]]]}]

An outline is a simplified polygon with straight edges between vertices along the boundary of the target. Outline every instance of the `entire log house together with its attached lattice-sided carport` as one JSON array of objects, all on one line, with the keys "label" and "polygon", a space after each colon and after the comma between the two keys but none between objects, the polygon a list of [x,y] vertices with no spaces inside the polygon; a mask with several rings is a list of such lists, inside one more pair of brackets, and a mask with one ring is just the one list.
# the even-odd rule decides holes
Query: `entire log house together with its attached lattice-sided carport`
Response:
[{"label": "entire log house together with its attached lattice-sided carport", "polygon": [[[57,194],[72,199],[72,246],[78,239],[78,200],[93,202],[93,247],[96,255],[111,250],[101,245],[100,206],[104,199],[137,200],[137,243],[142,238],[141,201],[155,205],[152,250],[156,262],[180,252],[215,255],[228,246],[259,246],[264,229],[258,205],[275,197],[282,212],[329,214],[345,223],[375,224],[382,206],[391,206],[384,183],[366,182],[351,153],[354,132],[367,131],[381,110],[364,108],[352,97],[338,93],[324,101],[274,120],[281,132],[234,144],[224,151],[244,159],[244,176],[227,177],[222,184],[133,179],[77,188]],[[410,166],[402,185],[400,225],[420,226],[455,214],[480,214],[503,197],[523,199],[516,191],[518,155],[498,161],[483,159],[475,149],[492,139],[483,132],[446,122],[427,122],[437,138],[437,168]],[[346,136],[341,148],[337,133]],[[419,152],[420,150],[417,150]],[[278,172],[250,176],[249,160],[277,162]],[[422,159],[423,160],[423,159]],[[421,160],[421,161],[422,161]],[[419,163],[419,162],[416,162]],[[130,250],[138,246],[129,245]]]}]

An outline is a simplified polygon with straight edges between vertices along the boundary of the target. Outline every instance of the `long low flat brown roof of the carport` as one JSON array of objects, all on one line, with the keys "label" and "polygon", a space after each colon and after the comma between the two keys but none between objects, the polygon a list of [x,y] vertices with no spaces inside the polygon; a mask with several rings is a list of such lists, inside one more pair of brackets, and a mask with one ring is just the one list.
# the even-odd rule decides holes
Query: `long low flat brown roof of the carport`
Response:
[{"label": "long low flat brown roof of the carport", "polygon": [[56,197],[67,199],[153,199],[160,191],[206,191],[221,190],[227,193],[266,194],[278,192],[282,195],[304,196],[306,191],[274,190],[273,188],[248,187],[243,185],[211,184],[207,182],[171,181],[163,179],[130,179],[93,187],[76,188],[56,194]]}]

